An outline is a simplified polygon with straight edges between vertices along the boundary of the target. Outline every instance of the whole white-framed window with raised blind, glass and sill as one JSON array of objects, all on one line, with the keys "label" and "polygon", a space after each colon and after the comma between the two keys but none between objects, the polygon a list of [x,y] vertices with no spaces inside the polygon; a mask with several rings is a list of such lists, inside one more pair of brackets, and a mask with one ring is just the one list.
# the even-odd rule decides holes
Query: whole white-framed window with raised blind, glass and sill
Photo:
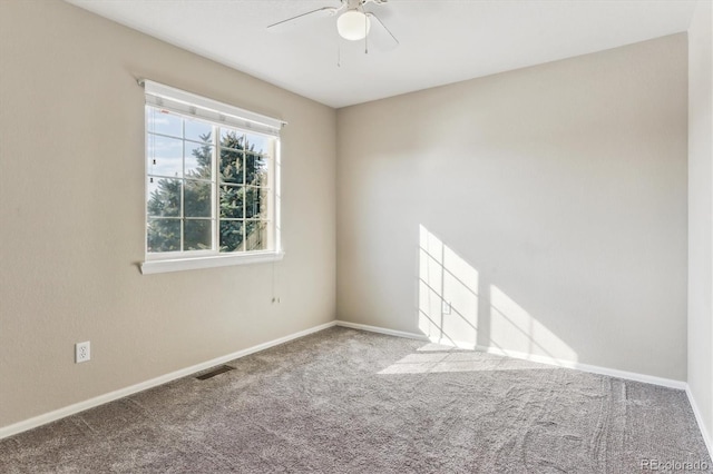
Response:
[{"label": "whole white-framed window with raised blind, glass and sill", "polygon": [[282,122],[156,82],[146,88],[141,271],[280,258]]}]

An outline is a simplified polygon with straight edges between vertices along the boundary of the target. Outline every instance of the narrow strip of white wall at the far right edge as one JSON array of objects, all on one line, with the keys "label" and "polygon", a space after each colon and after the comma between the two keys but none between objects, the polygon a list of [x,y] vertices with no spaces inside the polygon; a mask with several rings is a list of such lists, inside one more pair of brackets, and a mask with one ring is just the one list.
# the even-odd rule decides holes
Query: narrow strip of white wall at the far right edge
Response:
[{"label": "narrow strip of white wall at the far right edge", "polygon": [[[688,385],[713,443],[713,9],[688,30]],[[713,447],[713,445],[711,445]]]}]

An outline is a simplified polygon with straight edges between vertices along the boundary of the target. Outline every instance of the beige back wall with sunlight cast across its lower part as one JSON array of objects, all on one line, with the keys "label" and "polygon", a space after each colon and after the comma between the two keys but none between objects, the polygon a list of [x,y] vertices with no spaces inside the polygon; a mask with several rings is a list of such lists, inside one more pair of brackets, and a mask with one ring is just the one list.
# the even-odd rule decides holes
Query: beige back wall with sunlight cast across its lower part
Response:
[{"label": "beige back wall with sunlight cast across its lower part", "polygon": [[682,33],[339,110],[338,317],[685,381],[686,80]]}]

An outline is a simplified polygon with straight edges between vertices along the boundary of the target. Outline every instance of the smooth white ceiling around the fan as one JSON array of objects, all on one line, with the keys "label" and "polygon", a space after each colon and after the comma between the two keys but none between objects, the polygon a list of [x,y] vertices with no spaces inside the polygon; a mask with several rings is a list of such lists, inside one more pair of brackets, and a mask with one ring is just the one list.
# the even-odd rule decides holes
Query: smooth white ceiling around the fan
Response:
[{"label": "smooth white ceiling around the fan", "polygon": [[[390,0],[391,51],[338,41],[334,17],[267,26],[339,0],[67,0],[331,107],[685,31],[695,0]],[[338,67],[338,43],[341,67]]]}]

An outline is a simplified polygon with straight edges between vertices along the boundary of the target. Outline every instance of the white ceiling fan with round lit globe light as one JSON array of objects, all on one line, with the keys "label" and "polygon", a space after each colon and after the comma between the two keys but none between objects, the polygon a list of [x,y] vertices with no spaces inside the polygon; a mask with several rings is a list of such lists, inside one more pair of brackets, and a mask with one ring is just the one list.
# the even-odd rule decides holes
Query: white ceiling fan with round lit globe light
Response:
[{"label": "white ceiling fan with round lit globe light", "polygon": [[267,29],[277,29],[285,24],[310,18],[336,17],[336,32],[349,41],[364,40],[364,52],[369,52],[369,45],[373,43],[378,49],[390,50],[399,46],[399,40],[383,24],[372,11],[365,9],[369,3],[384,4],[389,0],[340,0],[339,7],[322,7],[306,11],[286,20],[267,26]]}]

